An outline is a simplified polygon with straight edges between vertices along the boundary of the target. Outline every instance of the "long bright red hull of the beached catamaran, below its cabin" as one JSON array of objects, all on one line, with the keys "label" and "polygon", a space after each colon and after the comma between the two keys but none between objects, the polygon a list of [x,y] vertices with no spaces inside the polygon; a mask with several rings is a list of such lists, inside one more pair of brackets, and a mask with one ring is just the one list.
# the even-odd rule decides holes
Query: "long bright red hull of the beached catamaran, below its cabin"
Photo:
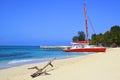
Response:
[{"label": "long bright red hull of the beached catamaran, below its cabin", "polygon": [[75,48],[63,50],[64,52],[105,52],[106,48]]}]

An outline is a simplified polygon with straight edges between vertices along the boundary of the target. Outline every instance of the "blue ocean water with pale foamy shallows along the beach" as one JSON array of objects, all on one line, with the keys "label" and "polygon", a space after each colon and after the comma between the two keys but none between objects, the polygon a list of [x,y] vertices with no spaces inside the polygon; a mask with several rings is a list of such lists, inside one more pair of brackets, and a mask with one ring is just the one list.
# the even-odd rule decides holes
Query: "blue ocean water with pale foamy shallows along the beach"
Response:
[{"label": "blue ocean water with pale foamy shallows along the beach", "polygon": [[89,53],[43,50],[39,46],[0,46],[0,69],[87,54]]}]

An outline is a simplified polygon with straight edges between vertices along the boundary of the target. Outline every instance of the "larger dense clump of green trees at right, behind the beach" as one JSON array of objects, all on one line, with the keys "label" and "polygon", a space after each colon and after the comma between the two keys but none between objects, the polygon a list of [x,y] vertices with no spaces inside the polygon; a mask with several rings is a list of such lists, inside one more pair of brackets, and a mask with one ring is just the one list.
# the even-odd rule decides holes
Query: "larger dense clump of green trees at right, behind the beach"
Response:
[{"label": "larger dense clump of green trees at right, behind the beach", "polygon": [[105,46],[111,46],[113,43],[120,46],[120,26],[112,26],[110,31],[106,31],[104,34],[93,34],[91,39],[92,44],[97,45],[102,43]]}]

